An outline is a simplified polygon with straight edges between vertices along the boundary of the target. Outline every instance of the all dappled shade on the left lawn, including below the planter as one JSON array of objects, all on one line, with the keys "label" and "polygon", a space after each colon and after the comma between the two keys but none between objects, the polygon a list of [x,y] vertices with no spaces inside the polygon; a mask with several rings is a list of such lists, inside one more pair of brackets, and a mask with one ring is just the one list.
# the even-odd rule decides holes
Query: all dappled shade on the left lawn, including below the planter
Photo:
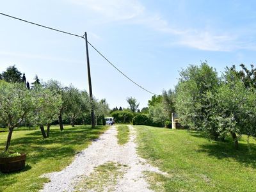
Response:
[{"label": "all dappled shade on the left lawn, including below the planter", "polygon": [[[44,160],[63,159],[76,155],[74,145],[84,145],[90,141],[99,138],[99,134],[104,132],[102,127],[92,129],[88,126],[79,126],[68,128],[60,132],[60,129],[51,129],[49,138],[44,139],[40,130],[25,132],[21,137],[13,138],[10,145],[10,150],[17,152],[25,152],[27,154],[26,167],[20,172],[3,174],[0,173],[0,180],[4,185],[0,191],[6,186],[11,186],[17,182],[19,173],[26,172],[33,166]],[[15,132],[14,132],[15,134]]]}]

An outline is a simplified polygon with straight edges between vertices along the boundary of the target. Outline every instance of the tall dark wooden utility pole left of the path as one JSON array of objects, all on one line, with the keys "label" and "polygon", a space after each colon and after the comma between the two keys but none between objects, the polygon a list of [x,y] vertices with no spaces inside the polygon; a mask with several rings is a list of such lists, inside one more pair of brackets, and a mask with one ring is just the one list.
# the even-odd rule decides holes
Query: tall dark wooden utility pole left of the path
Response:
[{"label": "tall dark wooden utility pole left of the path", "polygon": [[92,80],[91,80],[91,71],[90,71],[90,60],[89,60],[89,51],[88,51],[88,42],[87,42],[87,33],[84,32],[85,45],[86,45],[86,60],[87,60],[87,72],[88,72],[88,83],[89,83],[89,93],[92,104],[91,118],[92,118],[92,127],[95,127],[95,115],[94,115],[94,105],[93,105],[93,95],[92,95]]}]

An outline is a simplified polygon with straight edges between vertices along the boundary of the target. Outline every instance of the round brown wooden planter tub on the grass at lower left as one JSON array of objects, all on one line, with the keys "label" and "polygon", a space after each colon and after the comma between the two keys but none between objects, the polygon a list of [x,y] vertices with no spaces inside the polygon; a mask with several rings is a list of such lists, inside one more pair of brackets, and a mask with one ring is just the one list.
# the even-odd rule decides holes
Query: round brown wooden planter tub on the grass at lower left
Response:
[{"label": "round brown wooden planter tub on the grass at lower left", "polygon": [[0,171],[3,173],[22,170],[25,167],[26,154],[17,157],[0,157]]}]

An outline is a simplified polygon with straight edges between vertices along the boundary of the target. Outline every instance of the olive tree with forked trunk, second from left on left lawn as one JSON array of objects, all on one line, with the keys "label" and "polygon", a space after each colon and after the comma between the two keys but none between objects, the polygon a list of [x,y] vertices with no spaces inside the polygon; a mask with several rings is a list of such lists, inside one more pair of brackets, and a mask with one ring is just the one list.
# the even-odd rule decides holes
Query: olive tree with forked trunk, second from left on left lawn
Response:
[{"label": "olive tree with forked trunk, second from left on left lawn", "polygon": [[[49,137],[51,122],[58,119],[59,108],[62,104],[61,95],[49,88],[36,84],[31,90],[34,109],[29,119],[38,125],[44,138]],[[47,125],[45,133],[44,125]]]}]

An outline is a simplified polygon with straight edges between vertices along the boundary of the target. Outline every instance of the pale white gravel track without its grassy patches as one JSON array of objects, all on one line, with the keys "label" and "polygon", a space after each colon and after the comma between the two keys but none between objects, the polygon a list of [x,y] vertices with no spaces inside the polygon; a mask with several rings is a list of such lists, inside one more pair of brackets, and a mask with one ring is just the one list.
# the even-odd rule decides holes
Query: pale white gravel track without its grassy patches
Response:
[{"label": "pale white gravel track without its grassy patches", "polygon": [[74,161],[61,172],[42,175],[51,182],[45,184],[41,191],[74,191],[77,182],[84,176],[90,175],[93,169],[101,164],[113,161],[129,167],[122,179],[118,180],[115,191],[151,191],[143,178],[144,171],[157,172],[158,168],[151,166],[136,153],[136,132],[129,125],[130,140],[125,145],[118,145],[116,127],[112,126],[102,134],[92,145],[77,154]]}]

